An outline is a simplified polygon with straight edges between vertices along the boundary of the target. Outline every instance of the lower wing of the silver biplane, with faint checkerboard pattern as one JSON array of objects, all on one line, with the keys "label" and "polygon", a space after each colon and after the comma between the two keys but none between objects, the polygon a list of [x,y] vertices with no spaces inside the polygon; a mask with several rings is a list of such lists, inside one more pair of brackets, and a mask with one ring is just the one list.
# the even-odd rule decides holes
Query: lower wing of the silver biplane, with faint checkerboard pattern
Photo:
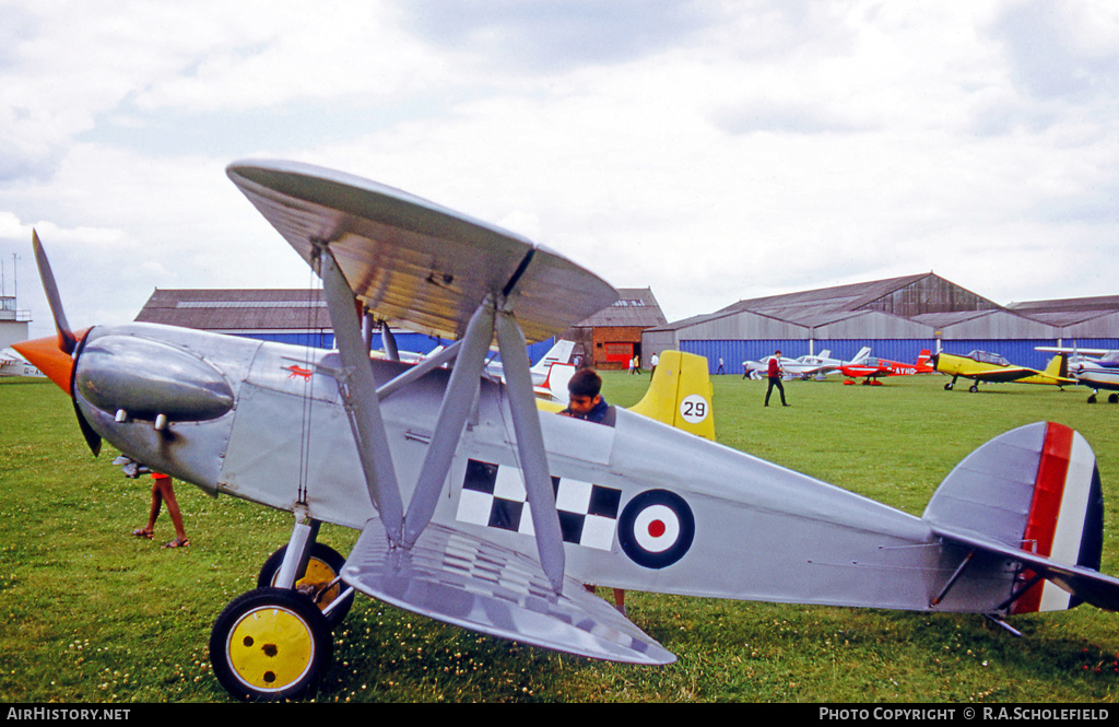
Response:
[{"label": "lower wing of the silver biplane, with faint checkerboard pattern", "polygon": [[533,558],[436,523],[404,549],[389,548],[380,521],[368,521],[342,578],[394,606],[493,636],[591,659],[676,661],[579,581],[565,578],[558,595]]}]

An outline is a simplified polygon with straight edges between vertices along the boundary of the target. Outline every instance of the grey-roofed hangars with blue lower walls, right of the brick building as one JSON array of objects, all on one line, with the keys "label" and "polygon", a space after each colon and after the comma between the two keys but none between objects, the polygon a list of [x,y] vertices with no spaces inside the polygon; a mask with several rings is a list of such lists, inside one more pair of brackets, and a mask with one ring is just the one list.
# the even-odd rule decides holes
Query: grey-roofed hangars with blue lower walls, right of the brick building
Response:
[{"label": "grey-roofed hangars with blue lower walls, right of the brick building", "polygon": [[1119,296],[1041,300],[1000,306],[934,273],[890,278],[765,298],[649,328],[647,356],[679,348],[720,357],[728,373],[780,348],[796,358],[827,349],[849,360],[861,347],[872,355],[913,362],[928,348],[967,354],[999,353],[1015,364],[1044,367],[1035,346],[1119,348]]}]

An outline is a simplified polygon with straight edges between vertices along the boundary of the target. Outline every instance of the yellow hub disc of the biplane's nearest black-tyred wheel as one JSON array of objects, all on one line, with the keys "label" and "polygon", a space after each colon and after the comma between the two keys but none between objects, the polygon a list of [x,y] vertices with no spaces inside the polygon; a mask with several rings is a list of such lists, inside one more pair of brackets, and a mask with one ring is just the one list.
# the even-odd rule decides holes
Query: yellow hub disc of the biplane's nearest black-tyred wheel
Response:
[{"label": "yellow hub disc of the biplane's nearest black-tyred wheel", "polygon": [[298,614],[280,606],[250,611],[226,644],[234,673],[260,690],[283,689],[311,668],[314,640]]}]

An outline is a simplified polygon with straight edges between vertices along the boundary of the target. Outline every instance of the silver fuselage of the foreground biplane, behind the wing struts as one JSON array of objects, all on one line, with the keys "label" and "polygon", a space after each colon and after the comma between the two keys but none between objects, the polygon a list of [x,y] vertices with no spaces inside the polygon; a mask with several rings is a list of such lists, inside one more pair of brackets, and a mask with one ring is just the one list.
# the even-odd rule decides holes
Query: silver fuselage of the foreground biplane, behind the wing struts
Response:
[{"label": "silver fuselage of the foreground biplane, behind the wing struts", "polygon": [[[132,400],[92,401],[100,382],[91,372],[103,367],[106,348],[129,339],[124,347],[153,357],[129,369],[134,380],[122,391]],[[408,366],[370,365],[378,386]],[[97,327],[76,362],[75,397],[98,435],[152,469],[214,495],[360,529],[377,512],[340,367],[336,352],[316,348],[143,324]],[[197,385],[171,391],[170,370]],[[446,380],[445,370],[433,370],[380,401],[405,506]],[[159,401],[144,406],[137,392]],[[157,410],[171,404],[158,429]],[[928,609],[959,565],[961,554],[920,518],[646,417],[619,410],[605,427],[540,412],[540,425],[567,574],[583,582]],[[515,441],[505,388],[483,379],[434,521],[535,553]],[[935,609],[991,611],[1012,580],[1005,563],[977,563]]]}]

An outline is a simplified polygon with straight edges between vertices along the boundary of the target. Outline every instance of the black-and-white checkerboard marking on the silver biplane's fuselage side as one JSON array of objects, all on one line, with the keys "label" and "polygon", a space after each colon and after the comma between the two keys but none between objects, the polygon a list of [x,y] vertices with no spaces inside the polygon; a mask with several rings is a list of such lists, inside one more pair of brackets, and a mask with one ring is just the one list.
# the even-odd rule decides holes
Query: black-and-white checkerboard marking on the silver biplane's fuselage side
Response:
[{"label": "black-and-white checkerboard marking on the silver biplane's fuselage side", "polygon": [[[553,477],[552,487],[564,541],[610,550],[618,524],[621,491],[567,477]],[[520,470],[469,460],[457,519],[474,525],[534,534]]]}]

